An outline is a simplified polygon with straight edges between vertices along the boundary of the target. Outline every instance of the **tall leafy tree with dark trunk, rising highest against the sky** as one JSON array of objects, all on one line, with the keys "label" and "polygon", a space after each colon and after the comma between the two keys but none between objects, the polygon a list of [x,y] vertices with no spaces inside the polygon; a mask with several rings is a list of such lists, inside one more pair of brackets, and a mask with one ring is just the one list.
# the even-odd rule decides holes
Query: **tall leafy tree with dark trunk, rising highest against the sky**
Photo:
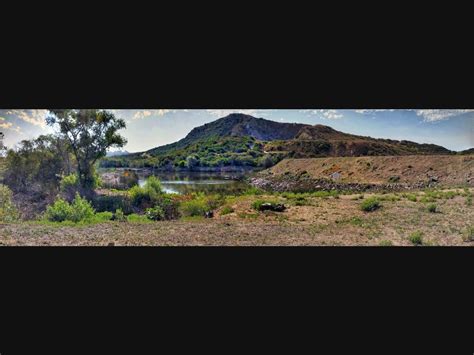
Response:
[{"label": "tall leafy tree with dark trunk, rising highest against the sky", "polygon": [[86,191],[94,187],[94,164],[109,148],[121,148],[127,141],[117,132],[125,121],[106,110],[50,110],[47,123],[57,125],[69,143],[77,163],[79,184]]}]

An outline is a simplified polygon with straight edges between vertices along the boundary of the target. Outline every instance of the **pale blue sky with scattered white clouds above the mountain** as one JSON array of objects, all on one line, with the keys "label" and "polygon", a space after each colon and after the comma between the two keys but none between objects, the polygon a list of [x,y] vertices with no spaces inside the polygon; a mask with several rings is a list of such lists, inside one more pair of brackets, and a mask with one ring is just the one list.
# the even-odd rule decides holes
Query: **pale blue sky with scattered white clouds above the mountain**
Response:
[{"label": "pale blue sky with scattered white clouds above the mountain", "polygon": [[[246,113],[277,122],[324,124],[342,132],[434,143],[451,150],[474,147],[474,109],[313,109],[313,110],[116,110],[127,128],[121,134],[128,139],[129,152],[145,151],[184,138],[194,127],[212,122],[230,113]],[[0,109],[0,132],[5,145],[14,147],[24,139],[54,132],[46,125],[46,110]]]}]

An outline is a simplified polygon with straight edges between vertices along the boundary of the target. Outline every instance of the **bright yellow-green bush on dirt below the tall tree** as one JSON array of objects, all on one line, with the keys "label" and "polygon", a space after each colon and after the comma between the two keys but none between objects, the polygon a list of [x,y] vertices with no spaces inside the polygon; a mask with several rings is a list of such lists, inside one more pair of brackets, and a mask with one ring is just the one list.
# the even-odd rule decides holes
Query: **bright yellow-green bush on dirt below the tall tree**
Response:
[{"label": "bright yellow-green bush on dirt below the tall tree", "polygon": [[71,204],[62,198],[58,198],[47,207],[45,214],[46,219],[51,222],[71,221],[74,223],[90,221],[94,216],[94,208],[79,194],[76,194]]}]

